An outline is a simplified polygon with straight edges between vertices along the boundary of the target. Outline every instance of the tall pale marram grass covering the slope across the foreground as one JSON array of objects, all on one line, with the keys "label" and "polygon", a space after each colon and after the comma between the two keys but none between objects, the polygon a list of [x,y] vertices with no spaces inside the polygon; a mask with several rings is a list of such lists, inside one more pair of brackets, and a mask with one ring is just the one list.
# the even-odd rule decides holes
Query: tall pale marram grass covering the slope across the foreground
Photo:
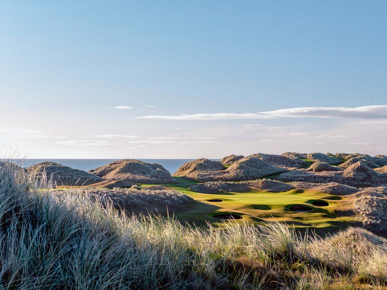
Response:
[{"label": "tall pale marram grass covering the slope across the foreground", "polygon": [[375,288],[387,281],[385,241],[364,230],[322,239],[281,223],[217,229],[126,217],[3,167],[0,200],[2,289]]}]

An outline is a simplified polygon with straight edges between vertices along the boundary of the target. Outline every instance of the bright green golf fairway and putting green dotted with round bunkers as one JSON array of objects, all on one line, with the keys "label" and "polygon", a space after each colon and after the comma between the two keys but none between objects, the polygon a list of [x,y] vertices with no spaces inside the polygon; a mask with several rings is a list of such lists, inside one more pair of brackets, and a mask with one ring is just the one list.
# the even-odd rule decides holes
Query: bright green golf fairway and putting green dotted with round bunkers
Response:
[{"label": "bright green golf fairway and putting green dotted with round bunkers", "polygon": [[[252,190],[245,192],[219,192],[215,194],[195,193],[187,189],[194,181],[187,181],[182,177],[175,177],[178,184],[159,184],[189,194],[194,203],[187,206],[183,212],[175,212],[179,220],[202,224],[210,222],[222,225],[227,220],[219,220],[214,215],[232,213],[243,217],[233,222],[264,223],[270,220],[286,222],[295,227],[339,227],[345,228],[348,223],[356,222],[352,217],[345,216],[351,201],[346,196],[323,193],[313,190],[292,189],[284,192],[270,190]],[[142,185],[142,187],[150,186]],[[208,200],[222,200],[211,202]],[[312,205],[313,201],[325,201],[328,206]],[[293,212],[292,205],[305,205],[313,210],[310,212]]]}]

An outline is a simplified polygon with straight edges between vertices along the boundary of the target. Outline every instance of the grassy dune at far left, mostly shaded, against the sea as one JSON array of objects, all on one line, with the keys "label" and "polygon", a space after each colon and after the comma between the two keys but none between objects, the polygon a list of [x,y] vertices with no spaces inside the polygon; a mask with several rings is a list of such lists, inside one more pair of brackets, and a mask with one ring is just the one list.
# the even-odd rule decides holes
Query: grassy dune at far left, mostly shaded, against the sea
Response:
[{"label": "grassy dune at far left, mostly shaded, against the sea", "polygon": [[43,161],[38,164],[34,164],[26,167],[25,170],[39,182],[42,182],[47,178],[52,179],[57,183],[61,183],[62,181],[98,181],[101,179],[95,174],[64,166],[52,161]]}]

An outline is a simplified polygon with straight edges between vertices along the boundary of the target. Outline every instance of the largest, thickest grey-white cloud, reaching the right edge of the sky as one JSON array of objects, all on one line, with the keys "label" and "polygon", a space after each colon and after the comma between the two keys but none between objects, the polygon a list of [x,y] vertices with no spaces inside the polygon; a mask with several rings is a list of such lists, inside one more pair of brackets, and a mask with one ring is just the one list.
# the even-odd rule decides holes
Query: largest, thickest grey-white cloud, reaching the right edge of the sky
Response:
[{"label": "largest, thickest grey-white cloud, reaching the right edge of the sky", "polygon": [[364,107],[299,107],[291,109],[280,109],[275,111],[259,112],[274,117],[315,117],[315,118],[387,118],[387,105],[364,106]]}]

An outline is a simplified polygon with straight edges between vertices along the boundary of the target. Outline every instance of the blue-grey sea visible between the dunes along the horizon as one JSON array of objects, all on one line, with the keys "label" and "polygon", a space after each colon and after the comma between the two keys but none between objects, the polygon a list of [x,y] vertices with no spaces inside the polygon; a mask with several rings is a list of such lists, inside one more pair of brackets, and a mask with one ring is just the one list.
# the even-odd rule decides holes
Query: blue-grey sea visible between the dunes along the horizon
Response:
[{"label": "blue-grey sea visible between the dunes along the horizon", "polygon": [[[110,162],[120,159],[10,159],[9,162],[15,163],[21,167],[28,167],[33,164],[37,164],[43,161],[52,161],[59,164],[69,166],[71,168],[89,171],[90,169],[97,168],[102,165],[106,165]],[[186,162],[195,159],[138,159],[147,163],[158,163],[168,170],[171,174]],[[220,161],[221,159],[211,159],[214,161]]]}]

